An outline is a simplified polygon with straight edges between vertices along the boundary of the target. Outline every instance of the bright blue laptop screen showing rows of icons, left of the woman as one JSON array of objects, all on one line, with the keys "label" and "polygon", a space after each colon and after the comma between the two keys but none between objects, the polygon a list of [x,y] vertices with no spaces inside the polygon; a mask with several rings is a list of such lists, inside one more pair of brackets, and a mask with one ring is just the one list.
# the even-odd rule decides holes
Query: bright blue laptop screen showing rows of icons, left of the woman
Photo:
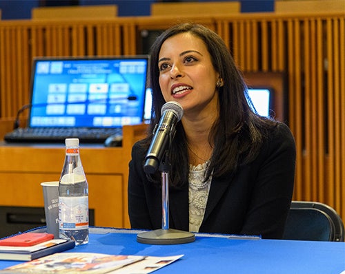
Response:
[{"label": "bright blue laptop screen showing rows of icons, left of the woman", "polygon": [[148,56],[37,58],[30,127],[122,127],[143,121]]}]

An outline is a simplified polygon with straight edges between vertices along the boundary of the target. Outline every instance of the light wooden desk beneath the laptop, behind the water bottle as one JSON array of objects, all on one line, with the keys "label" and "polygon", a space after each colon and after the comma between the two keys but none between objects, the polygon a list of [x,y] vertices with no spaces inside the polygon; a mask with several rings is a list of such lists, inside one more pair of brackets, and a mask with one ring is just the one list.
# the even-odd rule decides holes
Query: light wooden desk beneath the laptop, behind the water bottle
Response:
[{"label": "light wooden desk beneath the laptop, behind the water bottle", "polygon": [[[147,125],[124,127],[122,147],[80,146],[89,184],[89,206],[95,225],[129,228],[127,209],[128,162],[136,140]],[[0,205],[43,207],[41,182],[59,180],[64,145],[0,145]]]}]

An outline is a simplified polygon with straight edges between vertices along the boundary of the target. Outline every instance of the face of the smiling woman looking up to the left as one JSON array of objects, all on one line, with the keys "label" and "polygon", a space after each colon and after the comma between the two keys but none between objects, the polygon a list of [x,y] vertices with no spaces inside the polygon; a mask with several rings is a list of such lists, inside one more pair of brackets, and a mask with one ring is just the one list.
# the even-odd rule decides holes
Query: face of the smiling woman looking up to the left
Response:
[{"label": "face of the smiling woman looking up to the left", "polygon": [[166,39],[161,45],[158,67],[166,102],[180,103],[184,115],[215,112],[219,74],[204,41],[188,32]]}]

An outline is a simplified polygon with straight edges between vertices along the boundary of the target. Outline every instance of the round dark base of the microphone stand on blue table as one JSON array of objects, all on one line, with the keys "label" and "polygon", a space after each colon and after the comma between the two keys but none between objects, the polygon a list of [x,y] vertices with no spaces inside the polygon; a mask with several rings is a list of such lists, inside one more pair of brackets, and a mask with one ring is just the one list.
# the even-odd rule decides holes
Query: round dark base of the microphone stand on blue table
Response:
[{"label": "round dark base of the microphone stand on blue table", "polygon": [[137,235],[137,242],[141,244],[186,244],[194,241],[193,233],[176,229],[156,229]]}]

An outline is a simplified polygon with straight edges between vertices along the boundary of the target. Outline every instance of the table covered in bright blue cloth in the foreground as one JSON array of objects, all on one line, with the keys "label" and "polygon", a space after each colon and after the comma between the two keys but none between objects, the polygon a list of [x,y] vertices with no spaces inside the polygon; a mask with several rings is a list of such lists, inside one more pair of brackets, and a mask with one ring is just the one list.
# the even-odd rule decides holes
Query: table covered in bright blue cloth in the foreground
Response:
[{"label": "table covered in bright blue cloth in the foreground", "polygon": [[[340,274],[345,271],[345,242],[246,240],[196,234],[188,244],[150,245],[138,231],[90,228],[90,242],[66,252],[184,257],[155,273]],[[0,269],[18,264],[0,261]]]}]

